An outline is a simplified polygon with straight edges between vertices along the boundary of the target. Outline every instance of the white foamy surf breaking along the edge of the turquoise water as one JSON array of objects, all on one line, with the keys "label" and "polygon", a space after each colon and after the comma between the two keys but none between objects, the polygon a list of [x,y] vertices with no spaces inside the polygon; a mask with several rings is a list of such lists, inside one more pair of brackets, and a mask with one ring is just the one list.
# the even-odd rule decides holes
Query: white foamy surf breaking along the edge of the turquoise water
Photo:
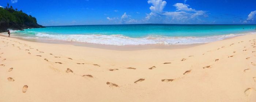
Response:
[{"label": "white foamy surf breaking along the edge of the turquoise water", "polygon": [[13,36],[22,37],[26,39],[47,39],[47,40],[65,40],[74,42],[84,43],[95,43],[95,44],[107,44],[107,45],[142,45],[142,44],[195,44],[195,43],[208,43],[217,40],[223,40],[232,36],[255,34],[255,32],[248,32],[242,34],[227,34],[227,35],[216,35],[216,36],[202,36],[202,37],[169,37],[169,36],[147,36],[144,38],[131,38],[124,35],[62,35],[62,34],[46,34],[42,32],[30,31],[34,36],[20,36],[15,31]]}]

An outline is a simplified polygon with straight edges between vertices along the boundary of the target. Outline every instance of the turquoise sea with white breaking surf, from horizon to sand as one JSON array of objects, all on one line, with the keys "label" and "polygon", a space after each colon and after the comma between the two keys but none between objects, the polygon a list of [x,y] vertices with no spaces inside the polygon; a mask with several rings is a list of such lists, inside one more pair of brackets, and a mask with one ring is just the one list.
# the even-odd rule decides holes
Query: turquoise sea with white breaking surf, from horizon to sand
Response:
[{"label": "turquoise sea with white breaking surf, from horizon to sand", "polygon": [[193,44],[256,34],[256,25],[124,24],[48,26],[11,31],[25,39],[65,40],[109,45]]}]

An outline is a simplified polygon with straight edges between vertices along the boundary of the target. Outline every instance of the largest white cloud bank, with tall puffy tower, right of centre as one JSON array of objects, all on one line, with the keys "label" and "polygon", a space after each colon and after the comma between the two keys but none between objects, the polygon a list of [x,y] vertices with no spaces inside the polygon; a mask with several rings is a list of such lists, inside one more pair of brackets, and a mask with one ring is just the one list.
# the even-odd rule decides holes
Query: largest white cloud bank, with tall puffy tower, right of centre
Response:
[{"label": "largest white cloud bank, with tall puffy tower, right of centre", "polygon": [[[176,11],[163,11],[166,6],[166,1],[163,0],[148,0],[148,4],[152,4],[150,7],[150,13],[146,14],[144,21],[162,20],[171,21],[172,23],[182,23],[188,20],[199,20],[199,16],[208,17],[206,11],[196,10],[189,8],[188,4],[176,3],[173,6],[176,7]],[[168,20],[169,19],[169,20]]]}]

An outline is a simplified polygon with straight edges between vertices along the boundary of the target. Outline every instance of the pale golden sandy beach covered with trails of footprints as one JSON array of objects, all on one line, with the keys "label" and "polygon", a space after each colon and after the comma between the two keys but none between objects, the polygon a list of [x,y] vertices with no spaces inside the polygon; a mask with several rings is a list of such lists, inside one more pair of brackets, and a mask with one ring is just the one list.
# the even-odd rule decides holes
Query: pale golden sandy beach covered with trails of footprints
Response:
[{"label": "pale golden sandy beach covered with trails of footprints", "polygon": [[256,102],[256,35],[111,50],[0,36],[0,102]]}]

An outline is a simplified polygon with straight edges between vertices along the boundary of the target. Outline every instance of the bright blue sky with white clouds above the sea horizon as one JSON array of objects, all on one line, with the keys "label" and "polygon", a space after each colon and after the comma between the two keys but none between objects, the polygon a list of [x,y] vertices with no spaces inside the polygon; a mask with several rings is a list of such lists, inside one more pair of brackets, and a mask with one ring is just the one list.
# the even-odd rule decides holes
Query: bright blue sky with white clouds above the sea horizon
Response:
[{"label": "bright blue sky with white clouds above the sea horizon", "polygon": [[256,24],[256,0],[0,0],[43,26]]}]

